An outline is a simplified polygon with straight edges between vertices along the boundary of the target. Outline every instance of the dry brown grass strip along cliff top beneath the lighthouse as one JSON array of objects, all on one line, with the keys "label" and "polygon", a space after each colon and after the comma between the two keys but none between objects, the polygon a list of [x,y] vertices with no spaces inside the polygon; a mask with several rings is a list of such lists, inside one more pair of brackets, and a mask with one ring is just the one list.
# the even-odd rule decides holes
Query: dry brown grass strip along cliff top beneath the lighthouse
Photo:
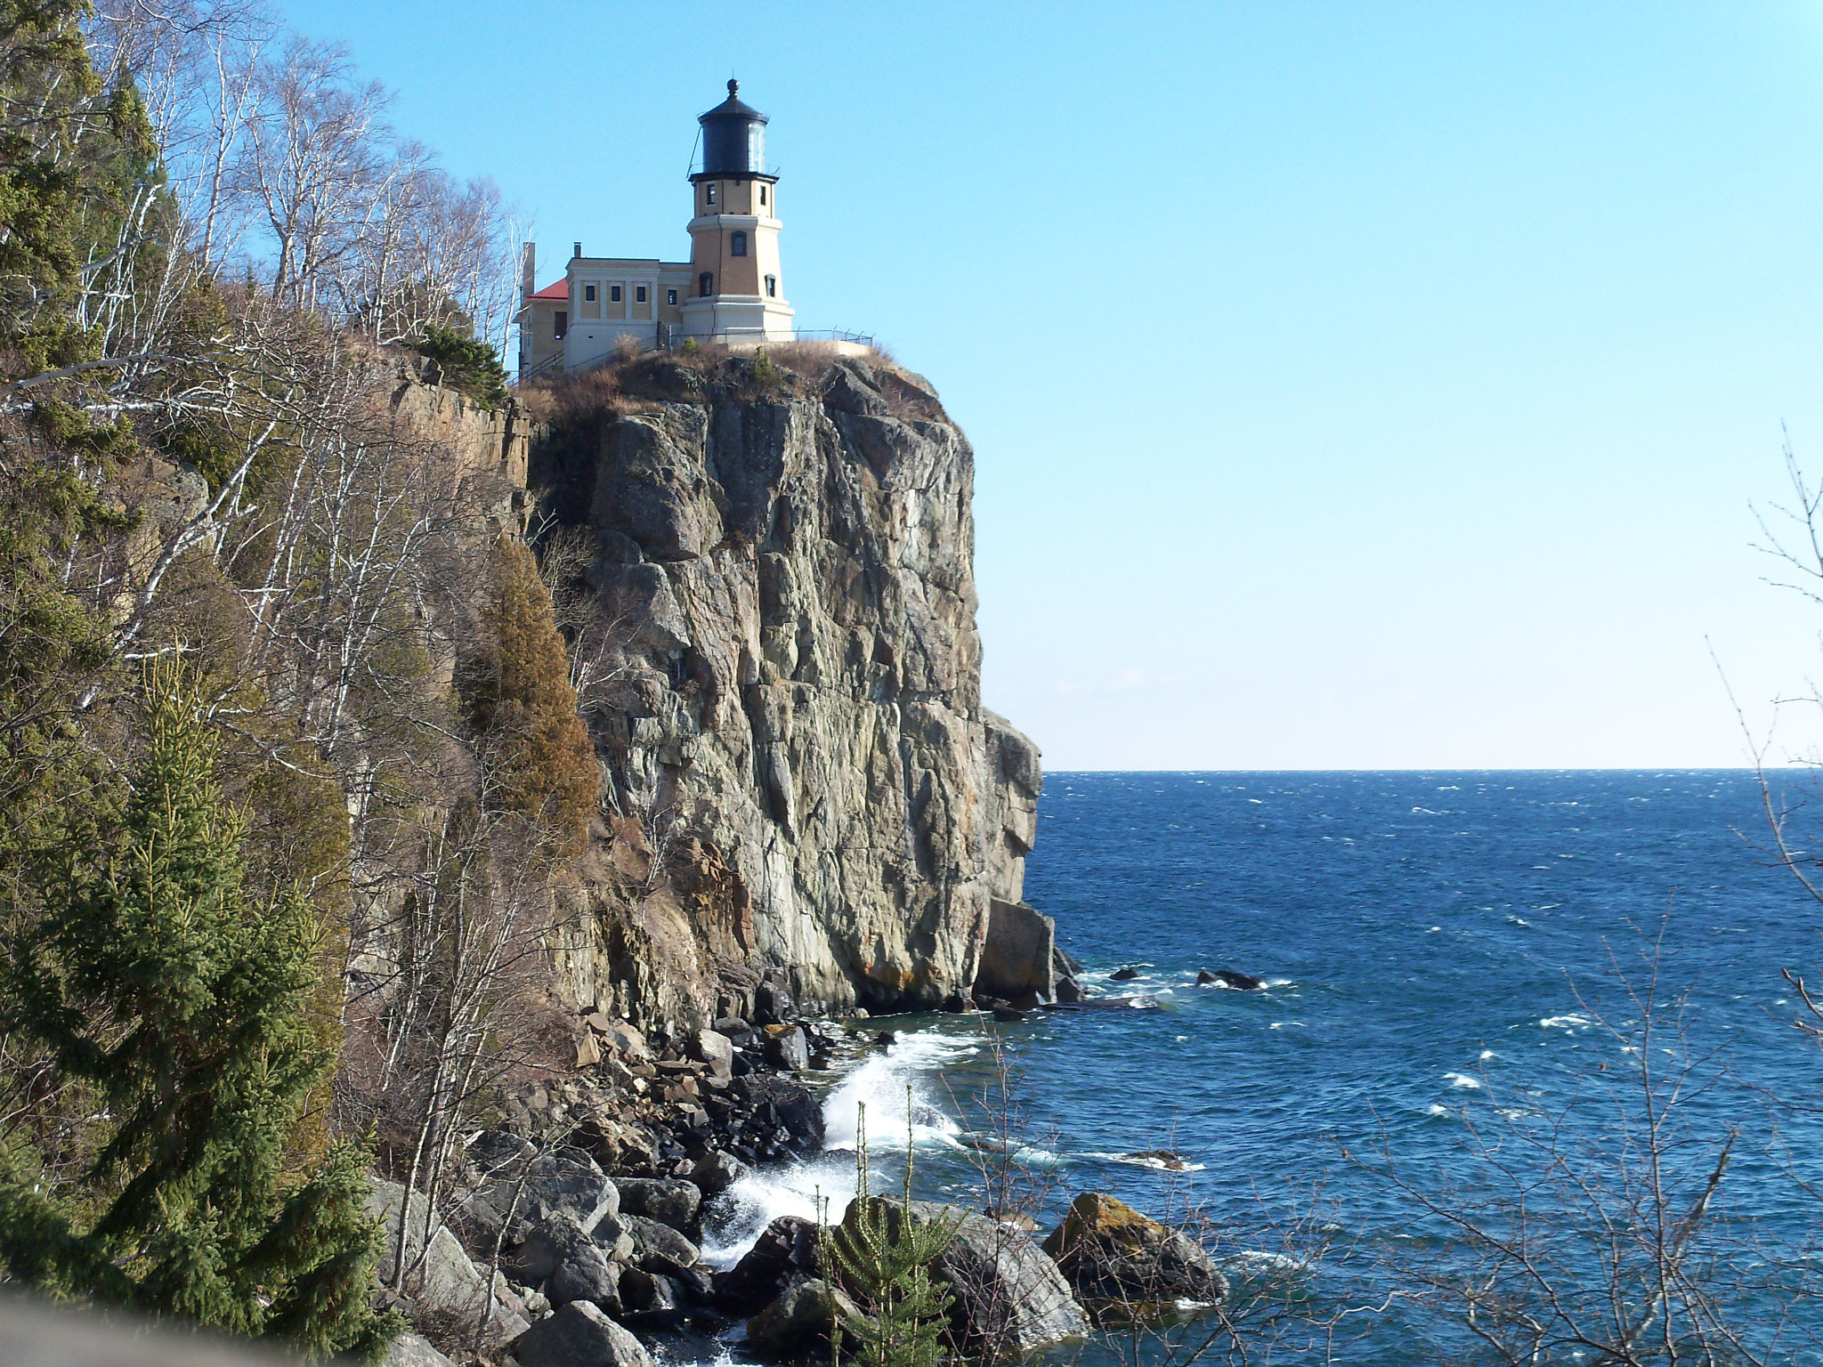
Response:
[{"label": "dry brown grass strip along cliff top beneath the lighthouse", "polygon": [[[875,346],[857,357],[868,366],[902,421],[946,421],[928,381],[901,366],[890,350]],[[567,423],[605,414],[649,412],[658,403],[751,403],[819,397],[840,361],[835,343],[778,343],[755,352],[722,344],[685,343],[669,352],[640,352],[627,344],[609,361],[574,375],[538,379],[520,388],[520,401],[543,423]]]}]

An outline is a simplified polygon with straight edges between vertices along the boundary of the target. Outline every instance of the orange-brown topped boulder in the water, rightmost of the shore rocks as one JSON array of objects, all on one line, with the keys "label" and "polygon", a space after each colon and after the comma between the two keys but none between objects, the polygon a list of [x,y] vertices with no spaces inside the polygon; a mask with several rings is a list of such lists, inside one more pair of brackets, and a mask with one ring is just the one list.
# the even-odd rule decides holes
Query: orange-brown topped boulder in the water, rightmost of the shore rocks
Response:
[{"label": "orange-brown topped boulder in the water, rightmost of the shore rocks", "polygon": [[1045,1252],[1077,1294],[1127,1312],[1229,1294],[1227,1278],[1196,1239],[1112,1196],[1077,1196],[1045,1238]]}]

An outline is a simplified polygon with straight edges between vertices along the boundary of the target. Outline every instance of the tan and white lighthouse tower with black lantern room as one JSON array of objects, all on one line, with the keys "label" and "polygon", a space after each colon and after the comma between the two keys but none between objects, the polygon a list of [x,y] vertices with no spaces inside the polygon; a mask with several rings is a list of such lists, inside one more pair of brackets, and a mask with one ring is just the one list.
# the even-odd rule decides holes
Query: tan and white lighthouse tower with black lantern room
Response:
[{"label": "tan and white lighthouse tower with black lantern room", "polygon": [[740,82],[698,120],[702,170],[691,175],[691,284],[685,337],[791,341],[793,310],[778,272],[778,177],[766,173],[766,115],[740,102]]}]

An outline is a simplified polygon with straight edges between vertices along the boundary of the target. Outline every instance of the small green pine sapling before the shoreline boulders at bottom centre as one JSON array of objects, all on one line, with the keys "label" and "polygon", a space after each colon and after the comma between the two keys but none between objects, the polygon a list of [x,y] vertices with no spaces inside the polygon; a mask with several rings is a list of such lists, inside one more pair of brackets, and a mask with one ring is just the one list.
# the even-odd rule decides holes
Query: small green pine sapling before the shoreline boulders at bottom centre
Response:
[{"label": "small green pine sapling before the shoreline boulders at bottom centre", "polygon": [[[835,1230],[820,1238],[822,1272],[840,1281],[866,1310],[846,1327],[860,1345],[862,1367],[937,1367],[950,1320],[950,1290],[932,1276],[955,1238],[948,1219],[919,1219],[912,1210],[912,1094],[906,1088],[904,1201],[875,1199],[868,1181],[868,1108],[855,1115],[855,1203]],[[831,1301],[835,1298],[831,1296]],[[831,1321],[837,1307],[831,1303]],[[831,1352],[840,1334],[831,1332]]]}]

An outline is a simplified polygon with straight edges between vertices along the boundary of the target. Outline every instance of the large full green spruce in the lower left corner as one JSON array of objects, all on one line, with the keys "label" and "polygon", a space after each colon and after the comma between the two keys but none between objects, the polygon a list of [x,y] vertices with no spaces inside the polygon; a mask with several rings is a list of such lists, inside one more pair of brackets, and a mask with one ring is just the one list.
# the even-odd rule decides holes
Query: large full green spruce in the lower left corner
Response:
[{"label": "large full green spruce in the lower left corner", "polygon": [[361,1150],[284,1174],[334,1064],[308,1023],[310,902],[248,908],[244,817],[180,669],[148,673],[142,735],[118,846],[47,857],[42,917],[11,946],[0,1021],[104,1119],[73,1179],[0,1152],[0,1259],[53,1296],[377,1356],[396,1325],[372,1310]]}]

